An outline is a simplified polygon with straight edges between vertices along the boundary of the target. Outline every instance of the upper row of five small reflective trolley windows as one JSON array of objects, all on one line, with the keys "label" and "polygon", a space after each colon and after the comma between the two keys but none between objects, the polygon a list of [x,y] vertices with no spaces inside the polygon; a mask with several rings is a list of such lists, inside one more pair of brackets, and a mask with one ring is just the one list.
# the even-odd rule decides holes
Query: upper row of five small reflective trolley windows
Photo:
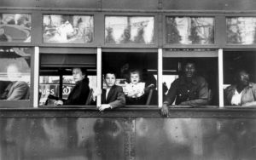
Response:
[{"label": "upper row of five small reflective trolley windows", "polygon": [[[44,43],[95,41],[93,15],[43,14],[41,19]],[[0,42],[32,43],[32,22],[32,14],[0,13]],[[225,17],[227,43],[255,44],[255,22],[255,17]],[[214,44],[217,23],[214,16],[166,16],[166,43]],[[154,16],[106,15],[103,25],[105,43],[156,43]]]}]

